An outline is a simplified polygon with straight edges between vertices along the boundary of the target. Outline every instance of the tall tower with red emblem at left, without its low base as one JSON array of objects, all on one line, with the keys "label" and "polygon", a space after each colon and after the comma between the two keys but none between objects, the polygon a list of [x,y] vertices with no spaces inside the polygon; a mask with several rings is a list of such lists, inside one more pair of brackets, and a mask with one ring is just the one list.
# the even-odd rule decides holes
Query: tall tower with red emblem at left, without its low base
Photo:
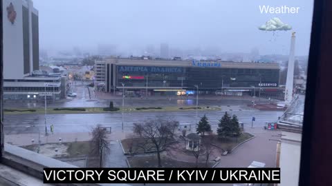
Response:
[{"label": "tall tower with red emblem at left, without its low base", "polygon": [[22,79],[39,70],[38,10],[30,0],[5,0],[3,12],[3,79]]}]

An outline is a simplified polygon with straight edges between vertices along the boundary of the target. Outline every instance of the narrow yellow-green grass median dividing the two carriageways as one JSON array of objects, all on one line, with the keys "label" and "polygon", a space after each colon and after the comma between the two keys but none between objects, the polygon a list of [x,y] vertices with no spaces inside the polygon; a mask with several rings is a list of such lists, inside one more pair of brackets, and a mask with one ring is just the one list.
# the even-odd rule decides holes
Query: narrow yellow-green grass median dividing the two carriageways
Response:
[{"label": "narrow yellow-green grass median dividing the two carriageways", "polygon": [[[93,114],[93,113],[107,113],[107,112],[122,112],[122,109],[118,111],[104,111],[103,107],[77,107],[78,109],[83,110],[75,110],[73,107],[68,107],[68,110],[54,110],[55,107],[48,107],[46,112],[48,114]],[[145,110],[136,110],[137,107],[124,107],[124,112],[187,112],[194,110],[192,107],[162,107],[161,109],[145,109]],[[59,108],[64,109],[64,108]],[[215,111],[220,110],[219,107],[201,107],[199,109],[201,111]],[[36,107],[32,110],[22,109],[22,108],[11,108],[10,110],[5,110],[4,114],[44,114],[44,107]]]}]

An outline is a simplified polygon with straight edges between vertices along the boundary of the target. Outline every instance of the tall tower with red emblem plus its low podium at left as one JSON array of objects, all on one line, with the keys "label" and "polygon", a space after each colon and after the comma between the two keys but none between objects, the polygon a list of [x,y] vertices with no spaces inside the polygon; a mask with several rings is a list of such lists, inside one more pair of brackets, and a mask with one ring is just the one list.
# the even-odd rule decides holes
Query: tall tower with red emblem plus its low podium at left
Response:
[{"label": "tall tower with red emblem plus its low podium at left", "polygon": [[2,12],[3,99],[64,98],[66,76],[39,70],[39,14],[33,1],[3,0]]}]

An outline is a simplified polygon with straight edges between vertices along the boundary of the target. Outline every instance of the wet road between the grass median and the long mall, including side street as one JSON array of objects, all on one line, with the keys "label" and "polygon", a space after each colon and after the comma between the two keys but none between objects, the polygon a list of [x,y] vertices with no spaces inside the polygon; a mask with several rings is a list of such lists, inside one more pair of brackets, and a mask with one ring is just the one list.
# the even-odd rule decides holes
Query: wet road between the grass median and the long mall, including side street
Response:
[{"label": "wet road between the grass median and the long mall, including side street", "polygon": [[[77,93],[76,97],[68,97],[68,99],[49,100],[47,107],[106,107],[109,101],[113,101],[115,106],[122,106],[122,96],[113,96],[104,92],[93,92],[93,88],[86,87],[88,83],[82,85],[82,82],[73,83],[73,92]],[[213,96],[199,95],[199,105],[248,105],[252,99],[256,103],[269,103],[266,99],[252,98],[250,96]],[[259,101],[260,100],[260,101]],[[275,101],[274,102],[278,102]],[[196,106],[196,96],[150,96],[148,98],[138,98],[126,96],[124,97],[124,105],[127,107],[145,107],[145,106]],[[37,103],[24,103],[23,101],[5,100],[4,107],[44,107],[44,100]]]}]

